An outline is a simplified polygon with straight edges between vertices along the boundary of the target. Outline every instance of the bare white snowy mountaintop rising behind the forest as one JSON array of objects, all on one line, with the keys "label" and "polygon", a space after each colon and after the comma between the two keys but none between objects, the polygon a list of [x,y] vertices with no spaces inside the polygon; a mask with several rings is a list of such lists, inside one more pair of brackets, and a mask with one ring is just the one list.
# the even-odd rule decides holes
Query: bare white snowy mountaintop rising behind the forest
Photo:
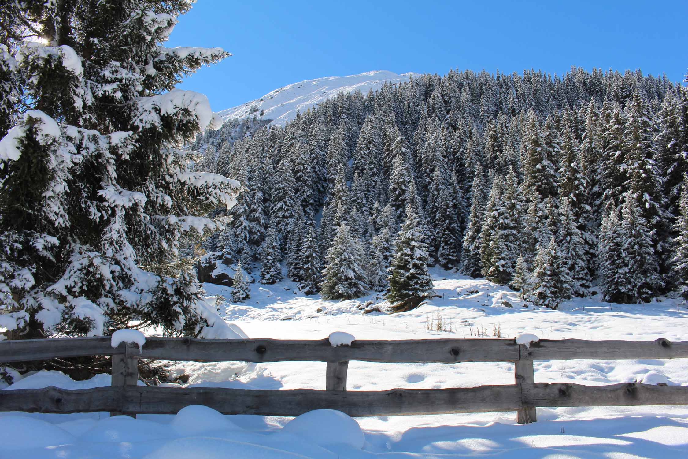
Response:
[{"label": "bare white snowy mountaintop rising behind the forest", "polygon": [[253,114],[259,115],[260,111],[264,110],[264,118],[270,118],[274,120],[273,124],[283,126],[297,115],[297,111],[305,111],[340,92],[349,93],[358,89],[365,96],[369,89],[375,91],[382,87],[385,81],[398,83],[408,81],[410,76],[417,75],[413,72],[397,75],[387,70],[374,70],[358,75],[327,76],[305,80],[275,89],[261,98],[222,110],[219,114],[224,120],[228,120]]}]

